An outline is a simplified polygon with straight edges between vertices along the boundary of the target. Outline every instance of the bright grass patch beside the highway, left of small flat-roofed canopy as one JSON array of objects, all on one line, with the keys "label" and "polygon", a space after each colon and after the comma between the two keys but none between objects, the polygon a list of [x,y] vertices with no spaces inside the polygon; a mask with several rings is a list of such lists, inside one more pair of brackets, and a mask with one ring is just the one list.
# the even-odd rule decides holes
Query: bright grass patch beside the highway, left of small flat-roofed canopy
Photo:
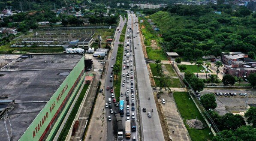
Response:
[{"label": "bright grass patch beside the highway, left of small flat-roofed canopy", "polygon": [[166,57],[166,54],[164,53],[164,51],[162,49],[152,49],[151,47],[147,47],[147,54],[148,54],[148,58],[151,60],[168,60],[168,58]]}]

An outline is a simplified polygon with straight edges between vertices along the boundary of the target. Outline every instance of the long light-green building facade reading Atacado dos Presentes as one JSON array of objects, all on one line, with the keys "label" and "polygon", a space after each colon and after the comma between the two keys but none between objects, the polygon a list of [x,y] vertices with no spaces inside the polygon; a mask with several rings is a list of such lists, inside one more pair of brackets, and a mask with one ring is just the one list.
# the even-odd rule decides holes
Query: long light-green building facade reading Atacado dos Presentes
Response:
[{"label": "long light-green building facade reading Atacado dos Presentes", "polygon": [[[81,57],[74,69],[66,77],[60,87],[53,94],[51,99],[42,108],[19,141],[40,141],[44,140],[53,129],[54,123],[60,122],[58,117],[63,116],[67,110],[66,104],[72,99],[73,92],[77,90],[84,75],[84,57]],[[61,116],[60,116],[61,117]]]}]

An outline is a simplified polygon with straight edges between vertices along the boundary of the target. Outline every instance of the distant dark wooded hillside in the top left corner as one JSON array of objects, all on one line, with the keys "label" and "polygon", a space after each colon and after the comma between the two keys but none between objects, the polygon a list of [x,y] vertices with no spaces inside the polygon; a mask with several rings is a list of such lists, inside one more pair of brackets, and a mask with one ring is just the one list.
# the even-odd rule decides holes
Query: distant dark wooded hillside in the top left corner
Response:
[{"label": "distant dark wooded hillside in the top left corner", "polygon": [[21,10],[20,2],[23,11],[27,10],[39,10],[39,9],[54,9],[69,4],[82,3],[87,0],[0,0],[0,10],[6,9],[6,6],[12,6],[12,9]]}]

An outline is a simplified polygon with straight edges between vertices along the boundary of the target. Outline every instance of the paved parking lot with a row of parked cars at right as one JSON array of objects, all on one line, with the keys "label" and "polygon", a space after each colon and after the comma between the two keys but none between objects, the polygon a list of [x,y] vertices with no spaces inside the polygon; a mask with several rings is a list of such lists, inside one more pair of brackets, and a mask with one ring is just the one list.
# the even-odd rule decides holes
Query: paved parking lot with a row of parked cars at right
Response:
[{"label": "paved parking lot with a row of parked cars at right", "polygon": [[[201,95],[206,93],[236,93],[237,96],[216,96],[217,108],[215,110],[224,115],[232,111],[245,111],[247,103],[256,103],[256,90],[236,90],[236,89],[204,89],[200,92]],[[247,96],[242,96],[239,93],[247,93]]]}]

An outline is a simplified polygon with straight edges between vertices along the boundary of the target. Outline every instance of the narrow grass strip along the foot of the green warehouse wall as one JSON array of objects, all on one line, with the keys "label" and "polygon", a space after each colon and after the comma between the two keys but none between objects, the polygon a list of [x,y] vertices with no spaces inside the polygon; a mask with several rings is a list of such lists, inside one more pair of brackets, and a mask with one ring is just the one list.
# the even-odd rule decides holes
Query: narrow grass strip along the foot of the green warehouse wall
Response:
[{"label": "narrow grass strip along the foot of the green warehouse wall", "polygon": [[84,87],[77,99],[77,101],[75,102],[75,105],[74,105],[74,108],[73,110],[71,111],[70,115],[69,115],[69,118],[68,120],[66,121],[66,124],[63,128],[63,130],[61,131],[60,133],[60,136],[58,138],[58,141],[64,141],[66,139],[66,136],[69,132],[69,129],[71,128],[71,125],[73,123],[73,120],[75,119],[75,115],[77,114],[78,112],[78,109],[79,109],[79,106],[81,105],[81,102],[83,101],[84,99],[84,95],[86,93],[86,90],[88,89],[89,87],[89,84],[84,84]]}]

